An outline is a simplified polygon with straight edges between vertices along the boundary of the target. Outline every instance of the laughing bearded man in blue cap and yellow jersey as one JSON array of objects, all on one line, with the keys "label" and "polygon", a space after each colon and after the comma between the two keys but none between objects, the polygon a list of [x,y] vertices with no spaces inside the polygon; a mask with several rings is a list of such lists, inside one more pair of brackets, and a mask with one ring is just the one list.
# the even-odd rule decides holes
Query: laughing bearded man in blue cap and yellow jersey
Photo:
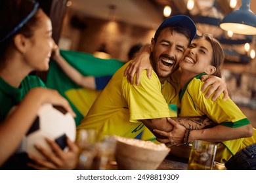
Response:
[{"label": "laughing bearded man in blue cap and yellow jersey", "polygon": [[151,41],[150,61],[154,69],[151,78],[142,71],[139,86],[130,84],[123,76],[129,65],[126,63],[98,95],[77,130],[95,129],[99,137],[119,135],[143,140],[156,139],[152,133],[145,132],[146,127],[150,131],[171,131],[173,126],[167,117],[177,116],[173,104],[179,100],[179,92],[167,78],[177,69],[184,50],[195,35],[196,25],[188,16],[164,20]]}]

